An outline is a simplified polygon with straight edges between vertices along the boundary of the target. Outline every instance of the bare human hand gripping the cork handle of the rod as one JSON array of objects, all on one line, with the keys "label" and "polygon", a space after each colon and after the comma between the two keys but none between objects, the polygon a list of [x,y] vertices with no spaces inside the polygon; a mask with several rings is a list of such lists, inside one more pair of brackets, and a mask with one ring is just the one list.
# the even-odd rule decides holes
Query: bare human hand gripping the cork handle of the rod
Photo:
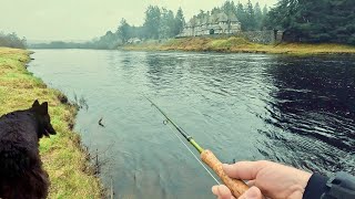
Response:
[{"label": "bare human hand gripping the cork handle of the rod", "polygon": [[[272,161],[240,161],[223,165],[223,170],[231,178],[248,180],[250,188],[240,199],[302,199],[312,174]],[[234,199],[224,186],[212,187],[219,199]]]}]

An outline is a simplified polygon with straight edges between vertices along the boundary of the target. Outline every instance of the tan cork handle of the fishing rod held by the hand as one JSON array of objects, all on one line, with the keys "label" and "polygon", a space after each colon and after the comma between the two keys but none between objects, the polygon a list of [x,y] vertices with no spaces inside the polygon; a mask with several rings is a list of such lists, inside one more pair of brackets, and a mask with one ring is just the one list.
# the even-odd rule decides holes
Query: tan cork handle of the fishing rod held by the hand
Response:
[{"label": "tan cork handle of the fishing rod held by the hand", "polygon": [[215,174],[222,179],[224,185],[230,188],[234,197],[239,198],[248,189],[247,185],[244,181],[232,179],[223,171],[222,163],[211,150],[203,150],[201,153],[201,159],[215,171]]}]

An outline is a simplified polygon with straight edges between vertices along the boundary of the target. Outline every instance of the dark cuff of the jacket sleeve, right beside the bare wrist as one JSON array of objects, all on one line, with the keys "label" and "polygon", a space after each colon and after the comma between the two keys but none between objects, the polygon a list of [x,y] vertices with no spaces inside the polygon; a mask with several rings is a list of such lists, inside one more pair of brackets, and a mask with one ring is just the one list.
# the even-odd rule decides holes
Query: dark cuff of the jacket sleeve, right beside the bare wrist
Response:
[{"label": "dark cuff of the jacket sleeve, right beside the bare wrist", "polygon": [[313,174],[305,188],[303,199],[320,199],[322,195],[327,190],[326,182],[328,178]]}]

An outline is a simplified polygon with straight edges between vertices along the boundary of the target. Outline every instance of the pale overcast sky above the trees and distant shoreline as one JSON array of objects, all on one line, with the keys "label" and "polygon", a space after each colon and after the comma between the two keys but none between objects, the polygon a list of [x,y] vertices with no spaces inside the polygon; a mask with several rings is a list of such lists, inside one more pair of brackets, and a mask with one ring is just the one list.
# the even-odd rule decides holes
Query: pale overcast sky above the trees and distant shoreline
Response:
[{"label": "pale overcast sky above the trees and distant shoreline", "polygon": [[[181,7],[190,19],[200,9],[211,10],[225,0],[0,0],[0,31],[17,32],[28,40],[91,40],[114,31],[125,18],[141,25],[148,6],[176,12]],[[245,3],[247,0],[240,0]],[[252,0],[272,7],[277,0]],[[237,2],[235,0],[234,2]]]}]

